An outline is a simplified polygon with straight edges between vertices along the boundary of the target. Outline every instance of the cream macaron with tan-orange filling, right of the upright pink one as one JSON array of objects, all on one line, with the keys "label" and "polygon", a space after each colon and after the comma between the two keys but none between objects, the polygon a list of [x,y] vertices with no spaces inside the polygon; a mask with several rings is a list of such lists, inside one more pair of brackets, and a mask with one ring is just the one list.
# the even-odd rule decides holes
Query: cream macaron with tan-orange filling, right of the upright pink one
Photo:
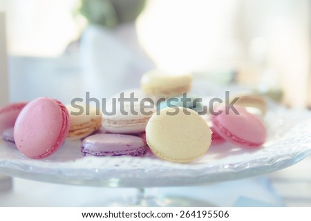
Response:
[{"label": "cream macaron with tan-orange filling, right of the upright pink one", "polygon": [[102,126],[102,112],[95,106],[79,104],[79,108],[66,105],[70,118],[69,140],[79,140],[91,135]]}]

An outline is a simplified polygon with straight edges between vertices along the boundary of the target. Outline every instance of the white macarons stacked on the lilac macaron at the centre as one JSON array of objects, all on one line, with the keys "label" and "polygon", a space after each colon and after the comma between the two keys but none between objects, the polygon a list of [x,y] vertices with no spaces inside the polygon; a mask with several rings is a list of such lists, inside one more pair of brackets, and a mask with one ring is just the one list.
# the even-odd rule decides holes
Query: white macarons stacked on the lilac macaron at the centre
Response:
[{"label": "white macarons stacked on the lilac macaron at the centre", "polygon": [[[138,99],[131,105],[130,102],[120,103],[121,96]],[[140,137],[144,133],[154,108],[141,112],[140,99],[145,98],[142,90],[124,90],[110,97],[102,110],[102,128],[91,136],[82,140],[82,154],[84,156],[142,156],[149,149],[146,140]],[[151,101],[152,102],[152,101]],[[126,114],[124,114],[126,113]]]}]

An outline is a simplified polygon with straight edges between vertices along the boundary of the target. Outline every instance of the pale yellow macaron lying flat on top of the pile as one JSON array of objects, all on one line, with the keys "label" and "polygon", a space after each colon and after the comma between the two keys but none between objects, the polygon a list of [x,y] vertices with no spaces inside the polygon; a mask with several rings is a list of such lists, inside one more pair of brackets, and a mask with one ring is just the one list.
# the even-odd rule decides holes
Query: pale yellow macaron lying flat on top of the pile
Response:
[{"label": "pale yellow macaron lying flat on top of the pile", "polygon": [[192,75],[170,75],[160,70],[151,70],[142,76],[141,88],[147,95],[173,97],[190,90]]}]

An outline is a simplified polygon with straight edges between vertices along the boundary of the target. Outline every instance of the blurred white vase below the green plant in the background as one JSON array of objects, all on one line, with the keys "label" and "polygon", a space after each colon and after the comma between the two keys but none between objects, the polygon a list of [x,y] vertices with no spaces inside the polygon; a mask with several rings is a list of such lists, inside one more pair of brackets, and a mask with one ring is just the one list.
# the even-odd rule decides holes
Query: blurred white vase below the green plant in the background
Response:
[{"label": "blurred white vase below the green plant in the background", "polygon": [[139,88],[141,76],[153,68],[139,48],[135,50],[120,35],[102,26],[86,28],[80,55],[85,91],[100,100],[120,90]]}]

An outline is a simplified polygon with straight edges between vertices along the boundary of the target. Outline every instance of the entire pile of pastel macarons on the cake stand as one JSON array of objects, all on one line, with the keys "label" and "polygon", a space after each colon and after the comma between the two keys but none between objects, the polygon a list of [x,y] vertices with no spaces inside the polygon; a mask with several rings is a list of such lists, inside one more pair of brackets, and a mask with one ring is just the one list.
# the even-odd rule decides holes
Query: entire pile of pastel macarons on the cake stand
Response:
[{"label": "entire pile of pastel macarons on the cake stand", "polygon": [[[218,106],[220,114],[211,115],[207,122],[196,112],[196,105],[180,102],[191,82],[191,75],[152,70],[142,77],[140,89],[112,96],[105,111],[84,104],[64,106],[48,97],[10,104],[0,108],[0,133],[8,146],[33,159],[52,155],[65,140],[81,140],[79,151],[84,156],[142,156],[150,149],[160,159],[182,163],[226,141],[243,148],[263,145],[265,125],[245,108],[263,104],[260,97],[245,96],[235,106],[238,114]],[[120,104],[121,96],[133,97],[135,103]],[[161,98],[175,98],[173,107],[158,103]]]}]

